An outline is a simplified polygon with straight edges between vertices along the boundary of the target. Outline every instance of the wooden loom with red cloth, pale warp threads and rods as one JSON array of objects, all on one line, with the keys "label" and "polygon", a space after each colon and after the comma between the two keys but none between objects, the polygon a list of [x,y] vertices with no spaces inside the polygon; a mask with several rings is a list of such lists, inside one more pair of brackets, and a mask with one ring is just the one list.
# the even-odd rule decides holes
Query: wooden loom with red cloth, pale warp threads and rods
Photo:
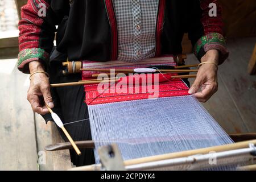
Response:
[{"label": "wooden loom with red cloth, pale warp threads and rods", "polygon": [[[188,94],[189,88],[180,78],[195,75],[177,73],[197,70],[177,67],[184,58],[177,57],[138,63],[64,63],[68,68],[64,74],[82,71],[82,81],[52,86],[85,85],[93,141],[76,144],[95,148],[96,164],[75,169],[228,170],[253,162],[256,140],[233,142]],[[66,148],[70,144],[47,146],[46,150]],[[211,159],[216,162],[210,163]]]}]

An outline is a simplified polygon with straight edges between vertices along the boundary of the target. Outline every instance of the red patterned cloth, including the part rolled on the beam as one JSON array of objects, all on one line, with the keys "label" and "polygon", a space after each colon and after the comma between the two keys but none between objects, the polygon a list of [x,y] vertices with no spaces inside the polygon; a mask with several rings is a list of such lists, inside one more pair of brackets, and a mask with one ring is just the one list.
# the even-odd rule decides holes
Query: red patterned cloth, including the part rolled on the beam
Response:
[{"label": "red patterned cloth, including the part rolled on the beam", "polygon": [[[155,57],[146,59],[139,63],[126,63],[123,61],[108,61],[104,63],[96,63],[92,61],[83,61],[83,68],[115,68],[115,69],[134,69],[147,68],[157,65],[166,65],[175,67],[176,63],[173,56]],[[82,71],[82,80],[89,79],[93,74],[100,73],[95,71]],[[162,74],[162,73],[159,73]],[[145,79],[150,83],[153,79],[151,74],[142,74],[141,80]],[[154,81],[153,81],[154,82]],[[104,88],[104,89],[103,89]],[[117,89],[122,92],[117,92]],[[93,84],[85,86],[85,102],[87,105],[106,104],[111,102],[122,102],[131,100],[142,100],[156,97],[172,97],[186,96],[188,94],[188,86],[181,79],[164,80],[154,84],[126,84],[121,85],[119,82],[110,82],[110,84]]]}]

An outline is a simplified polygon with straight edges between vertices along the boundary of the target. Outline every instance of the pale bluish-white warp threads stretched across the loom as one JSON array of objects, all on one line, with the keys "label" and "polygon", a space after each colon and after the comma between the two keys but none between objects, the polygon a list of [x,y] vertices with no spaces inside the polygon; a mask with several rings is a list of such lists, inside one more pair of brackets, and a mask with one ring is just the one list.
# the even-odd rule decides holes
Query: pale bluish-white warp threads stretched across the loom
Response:
[{"label": "pale bluish-white warp threads stretched across the loom", "polygon": [[[89,105],[94,152],[115,141],[124,160],[233,143],[193,96]],[[108,142],[109,141],[109,142]]]}]

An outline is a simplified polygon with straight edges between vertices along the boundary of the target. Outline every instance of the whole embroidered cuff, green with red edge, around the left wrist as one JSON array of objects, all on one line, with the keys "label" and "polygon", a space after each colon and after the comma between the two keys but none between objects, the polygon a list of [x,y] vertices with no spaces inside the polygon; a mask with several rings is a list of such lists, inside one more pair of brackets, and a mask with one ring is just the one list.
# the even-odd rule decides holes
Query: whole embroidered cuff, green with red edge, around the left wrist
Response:
[{"label": "whole embroidered cuff, green with red edge, around the left wrist", "polygon": [[28,64],[31,61],[43,61],[44,64],[49,60],[49,53],[40,48],[28,48],[19,52],[18,69],[23,73],[29,73]]}]

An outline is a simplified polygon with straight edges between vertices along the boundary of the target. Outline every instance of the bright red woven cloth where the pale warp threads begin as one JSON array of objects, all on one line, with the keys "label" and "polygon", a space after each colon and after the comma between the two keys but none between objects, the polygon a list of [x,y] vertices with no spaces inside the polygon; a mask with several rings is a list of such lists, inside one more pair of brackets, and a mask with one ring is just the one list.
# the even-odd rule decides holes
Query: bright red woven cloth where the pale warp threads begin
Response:
[{"label": "bright red woven cloth where the pale warp threads begin", "polygon": [[[92,63],[88,61],[87,63]],[[167,63],[166,63],[167,64]],[[84,65],[86,65],[84,63]],[[168,65],[175,66],[176,63],[171,61]],[[144,66],[144,65],[142,65]],[[129,68],[132,66],[129,65]],[[134,68],[138,68],[139,65],[136,65]],[[112,67],[113,68],[113,67]],[[120,68],[120,67],[118,67]],[[142,67],[143,68],[143,67]],[[84,71],[82,73],[82,79],[88,80],[89,75],[94,72]],[[121,82],[110,82],[110,84],[92,84],[85,85],[85,103],[87,105],[96,105],[96,104],[106,104],[112,102],[124,102],[124,101],[133,101],[133,100],[142,100],[148,98],[158,98],[158,97],[174,97],[174,96],[185,96],[188,94],[188,86],[179,78],[171,78],[171,75],[162,75],[158,74],[159,82],[154,82],[154,76],[147,74],[146,82],[133,82],[130,83],[132,78]],[[125,80],[125,78],[123,78]],[[129,82],[129,84],[122,85],[121,83]],[[135,84],[137,83],[137,84]]]}]

